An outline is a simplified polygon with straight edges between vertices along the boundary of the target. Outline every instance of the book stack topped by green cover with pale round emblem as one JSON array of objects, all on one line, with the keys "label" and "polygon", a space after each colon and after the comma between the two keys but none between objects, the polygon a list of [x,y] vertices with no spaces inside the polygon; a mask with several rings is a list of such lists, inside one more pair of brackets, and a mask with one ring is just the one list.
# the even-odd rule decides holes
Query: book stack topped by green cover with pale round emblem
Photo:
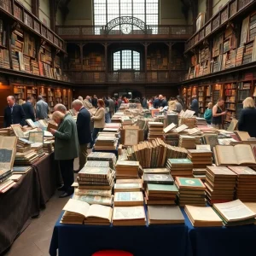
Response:
[{"label": "book stack topped by green cover with pale round emblem", "polygon": [[206,187],[200,178],[176,177],[175,184],[178,189],[177,201],[180,207],[206,206]]}]

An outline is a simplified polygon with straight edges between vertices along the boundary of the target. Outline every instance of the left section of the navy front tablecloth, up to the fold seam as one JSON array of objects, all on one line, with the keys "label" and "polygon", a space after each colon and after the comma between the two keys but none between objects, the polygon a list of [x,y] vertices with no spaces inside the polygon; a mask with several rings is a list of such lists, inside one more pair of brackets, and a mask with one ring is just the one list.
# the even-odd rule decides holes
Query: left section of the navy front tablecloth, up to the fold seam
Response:
[{"label": "left section of the navy front tablecloth, up to the fold seam", "polygon": [[[63,212],[61,213],[62,216]],[[122,249],[134,256],[185,256],[186,225],[97,226],[55,224],[49,254],[55,256],[91,256],[102,249]]]}]

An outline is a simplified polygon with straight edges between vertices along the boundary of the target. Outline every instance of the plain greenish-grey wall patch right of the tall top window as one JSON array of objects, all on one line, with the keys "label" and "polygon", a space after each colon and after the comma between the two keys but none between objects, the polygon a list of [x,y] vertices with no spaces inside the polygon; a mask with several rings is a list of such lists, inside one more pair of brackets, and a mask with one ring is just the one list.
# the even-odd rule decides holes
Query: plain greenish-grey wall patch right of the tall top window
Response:
[{"label": "plain greenish-grey wall patch right of the tall top window", "polygon": [[160,25],[186,25],[182,7],[180,0],[160,0]]}]

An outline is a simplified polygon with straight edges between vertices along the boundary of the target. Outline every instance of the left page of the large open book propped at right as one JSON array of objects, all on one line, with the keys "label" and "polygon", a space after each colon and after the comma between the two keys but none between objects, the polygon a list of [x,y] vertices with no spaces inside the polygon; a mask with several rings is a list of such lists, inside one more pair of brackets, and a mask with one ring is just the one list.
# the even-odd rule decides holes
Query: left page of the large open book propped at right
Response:
[{"label": "left page of the large open book propped at right", "polygon": [[238,165],[233,146],[216,146],[218,161],[220,165]]}]

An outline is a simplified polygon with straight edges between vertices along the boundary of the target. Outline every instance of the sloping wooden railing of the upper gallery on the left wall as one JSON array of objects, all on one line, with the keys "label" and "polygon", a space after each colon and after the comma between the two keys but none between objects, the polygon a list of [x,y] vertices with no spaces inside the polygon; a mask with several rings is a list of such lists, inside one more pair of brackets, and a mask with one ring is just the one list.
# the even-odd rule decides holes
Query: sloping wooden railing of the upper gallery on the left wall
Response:
[{"label": "sloping wooden railing of the upper gallery on the left wall", "polygon": [[64,51],[63,40],[55,34],[55,32],[45,26],[35,15],[32,15],[32,13],[22,5],[22,3],[17,0],[0,0],[0,13],[1,12],[5,15],[9,15],[11,18],[22,24],[22,26],[26,26],[57,49]]}]

